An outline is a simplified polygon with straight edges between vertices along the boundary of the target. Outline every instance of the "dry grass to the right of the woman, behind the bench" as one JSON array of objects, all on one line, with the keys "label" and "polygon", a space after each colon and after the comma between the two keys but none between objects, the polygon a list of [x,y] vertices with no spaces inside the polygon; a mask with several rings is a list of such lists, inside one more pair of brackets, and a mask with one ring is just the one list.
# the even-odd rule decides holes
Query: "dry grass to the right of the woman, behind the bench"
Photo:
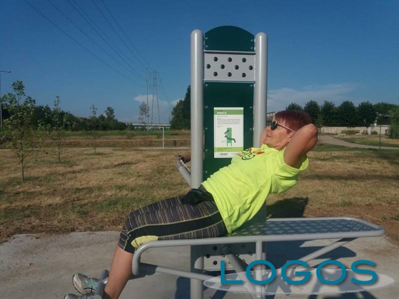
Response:
[{"label": "dry grass to the right of the woman, behind the bench", "polygon": [[303,207],[296,216],[360,217],[384,226],[399,240],[399,150],[316,150],[309,158],[298,183],[286,193],[270,195],[269,206],[300,198],[305,204],[299,204]]}]

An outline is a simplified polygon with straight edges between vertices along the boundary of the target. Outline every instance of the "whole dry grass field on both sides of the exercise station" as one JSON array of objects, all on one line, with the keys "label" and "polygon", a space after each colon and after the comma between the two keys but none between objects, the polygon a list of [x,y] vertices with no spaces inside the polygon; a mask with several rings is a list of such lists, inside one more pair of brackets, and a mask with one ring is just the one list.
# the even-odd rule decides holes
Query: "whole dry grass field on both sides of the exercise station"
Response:
[{"label": "whole dry grass field on both sides of the exercise station", "polygon": [[[15,153],[0,149],[0,241],[18,233],[120,230],[131,210],[189,190],[174,149],[112,146],[94,154],[69,147],[61,163],[47,152],[30,160],[22,182]],[[270,217],[355,216],[399,240],[399,151],[322,145],[309,157],[297,185],[268,197]]]}]

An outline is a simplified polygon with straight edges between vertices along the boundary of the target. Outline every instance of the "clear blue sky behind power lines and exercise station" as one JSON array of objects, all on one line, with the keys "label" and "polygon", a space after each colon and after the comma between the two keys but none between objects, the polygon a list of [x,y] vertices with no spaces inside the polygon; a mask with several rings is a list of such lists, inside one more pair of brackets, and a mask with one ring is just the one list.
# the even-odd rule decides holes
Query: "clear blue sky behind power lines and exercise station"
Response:
[{"label": "clear blue sky behind power lines and exercise station", "polygon": [[[67,0],[50,0],[117,63],[73,26],[48,0],[26,0],[84,47],[145,85],[145,69],[97,10],[92,0],[80,7],[125,53],[127,64],[97,35]],[[93,0],[113,22],[101,0]],[[141,56],[159,72],[161,122],[190,84],[190,33],[235,25],[268,35],[268,111],[309,100],[340,104],[351,100],[399,104],[399,1],[127,1],[103,0]],[[125,39],[125,42],[130,43]],[[140,56],[130,46],[137,57]],[[127,57],[129,58],[127,58]],[[131,60],[129,60],[131,59]],[[141,60],[142,61],[142,60]],[[145,64],[144,62],[142,62]],[[38,105],[61,98],[61,108],[77,116],[115,109],[120,121],[136,121],[145,88],[109,68],[22,0],[0,0],[2,93],[22,80]],[[151,93],[151,90],[150,90]],[[151,96],[150,96],[151,99]],[[154,121],[158,111],[154,109]]]}]

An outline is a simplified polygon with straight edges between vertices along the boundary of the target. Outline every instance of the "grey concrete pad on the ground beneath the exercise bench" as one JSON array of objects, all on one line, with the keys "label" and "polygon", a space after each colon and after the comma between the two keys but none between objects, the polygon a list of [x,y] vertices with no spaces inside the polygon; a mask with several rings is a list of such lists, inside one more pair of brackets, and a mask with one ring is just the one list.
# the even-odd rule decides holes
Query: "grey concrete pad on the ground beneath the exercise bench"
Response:
[{"label": "grey concrete pad on the ground beneath the exercise bench", "polygon": [[[0,245],[0,298],[63,298],[76,293],[72,274],[84,273],[97,277],[109,269],[119,232],[82,232],[63,235],[15,235]],[[331,240],[268,243],[267,260],[281,267],[287,259],[298,259],[315,251]],[[399,280],[399,247],[384,237],[357,239],[345,247],[322,257],[337,259],[347,268],[355,260],[367,259],[377,263],[375,271]],[[190,248],[151,249],[143,255],[143,262],[189,270]],[[311,266],[320,262],[315,260]],[[298,299],[332,298],[398,298],[395,284],[381,290],[346,295],[295,296]],[[122,296],[127,298],[190,298],[190,280],[166,274],[154,274],[131,280]],[[206,289],[204,298],[238,299],[248,295]],[[273,297],[268,297],[273,298]],[[275,298],[288,298],[276,296]],[[292,298],[292,296],[291,296]]]}]

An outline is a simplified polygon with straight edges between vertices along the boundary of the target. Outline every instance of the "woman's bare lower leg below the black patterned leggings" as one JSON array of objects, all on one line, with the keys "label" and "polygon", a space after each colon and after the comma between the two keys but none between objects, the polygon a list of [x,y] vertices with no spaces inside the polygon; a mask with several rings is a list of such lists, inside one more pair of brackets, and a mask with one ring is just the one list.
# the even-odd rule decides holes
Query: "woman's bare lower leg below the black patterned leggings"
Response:
[{"label": "woman's bare lower leg below the black patterned leggings", "polygon": [[132,277],[132,260],[132,253],[116,246],[108,282],[104,289],[104,299],[117,299],[121,295],[126,283]]}]

